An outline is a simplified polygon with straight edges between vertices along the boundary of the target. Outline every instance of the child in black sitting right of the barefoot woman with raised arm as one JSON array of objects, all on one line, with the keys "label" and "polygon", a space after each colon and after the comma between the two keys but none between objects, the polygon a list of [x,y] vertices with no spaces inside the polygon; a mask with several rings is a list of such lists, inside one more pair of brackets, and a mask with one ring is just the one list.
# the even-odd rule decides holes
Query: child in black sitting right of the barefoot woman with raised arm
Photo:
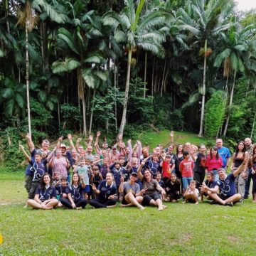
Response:
[{"label": "child in black sitting right of the barefoot woman with raised arm", "polygon": [[171,174],[171,179],[166,183],[166,201],[176,203],[181,198],[181,181],[176,174]]}]

